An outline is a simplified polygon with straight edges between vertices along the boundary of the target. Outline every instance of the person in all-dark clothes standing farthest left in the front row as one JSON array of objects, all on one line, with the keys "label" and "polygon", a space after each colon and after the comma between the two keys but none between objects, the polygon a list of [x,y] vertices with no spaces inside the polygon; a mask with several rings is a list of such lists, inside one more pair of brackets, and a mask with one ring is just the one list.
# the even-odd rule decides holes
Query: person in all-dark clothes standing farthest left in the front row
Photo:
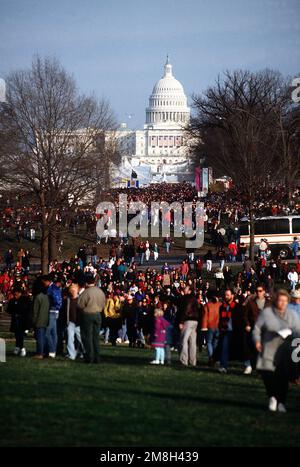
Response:
[{"label": "person in all-dark clothes standing farthest left in the front row", "polygon": [[16,338],[15,355],[26,356],[24,347],[24,332],[28,329],[30,314],[30,298],[23,295],[21,287],[15,287],[14,296],[8,302],[7,313],[11,315],[10,331]]}]

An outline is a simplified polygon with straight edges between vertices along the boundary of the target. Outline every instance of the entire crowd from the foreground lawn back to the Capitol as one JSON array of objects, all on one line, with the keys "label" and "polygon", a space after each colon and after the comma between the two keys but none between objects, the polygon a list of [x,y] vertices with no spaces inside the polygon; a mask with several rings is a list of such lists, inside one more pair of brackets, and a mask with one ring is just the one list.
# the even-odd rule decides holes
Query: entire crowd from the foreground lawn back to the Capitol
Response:
[{"label": "entire crowd from the foreground lawn back to the Capitol", "polygon": [[[197,200],[195,189],[185,183],[111,190],[107,199],[117,201],[120,191],[129,201],[145,204]],[[298,195],[287,200],[275,187],[261,202],[258,191],[256,209],[265,215],[296,213]],[[175,266],[156,266],[161,248],[167,257],[170,253],[170,236],[162,245],[112,239],[107,258],[99,257],[96,244],[82,246],[74,258],[51,262],[49,274],[34,280],[29,252],[20,248],[14,258],[12,250],[6,251],[0,304],[11,315],[15,355],[26,356],[24,339],[31,330],[38,360],[64,356],[98,363],[100,336],[105,345],[153,348],[153,365],[171,365],[177,352],[182,365],[195,367],[200,350],[221,374],[231,360],[241,362],[245,375],[258,369],[269,409],[284,412],[289,381],[300,383],[299,364],[290,358],[292,337],[300,336],[300,264],[280,257],[267,261],[264,239],[256,261],[250,260],[235,228],[248,215],[245,206],[238,190],[209,194],[205,229],[212,247],[202,255],[187,251]],[[13,224],[15,214],[6,212],[4,221]],[[38,220],[37,212],[31,214]],[[90,228],[96,217],[79,210],[72,222]],[[297,257],[297,238],[292,250]],[[237,261],[239,269],[232,267]],[[276,291],[278,283],[285,289]]]}]

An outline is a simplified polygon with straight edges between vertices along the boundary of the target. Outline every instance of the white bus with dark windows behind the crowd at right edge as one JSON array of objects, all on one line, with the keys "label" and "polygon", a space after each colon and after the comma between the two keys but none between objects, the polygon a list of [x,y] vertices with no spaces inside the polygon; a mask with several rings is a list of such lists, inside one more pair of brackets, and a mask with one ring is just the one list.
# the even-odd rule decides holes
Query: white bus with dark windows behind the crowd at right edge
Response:
[{"label": "white bus with dark windows behind the crowd at right edge", "polygon": [[[240,243],[250,244],[249,222],[239,225]],[[300,216],[270,216],[260,217],[254,221],[254,244],[256,249],[261,239],[267,240],[271,252],[279,254],[281,258],[291,257],[291,244],[294,237],[300,240]],[[300,254],[300,252],[299,252]]]}]

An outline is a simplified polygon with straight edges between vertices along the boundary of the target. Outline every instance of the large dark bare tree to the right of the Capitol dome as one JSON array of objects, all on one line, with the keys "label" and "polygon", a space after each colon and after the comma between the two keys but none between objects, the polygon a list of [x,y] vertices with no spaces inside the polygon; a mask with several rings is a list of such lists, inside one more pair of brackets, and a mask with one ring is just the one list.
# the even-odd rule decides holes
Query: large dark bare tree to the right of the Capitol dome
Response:
[{"label": "large dark bare tree to the right of the Capitol dome", "polygon": [[276,128],[281,76],[265,70],[226,72],[203,96],[188,128],[194,152],[215,171],[230,176],[247,200],[250,254],[254,258],[254,201],[276,168]]}]

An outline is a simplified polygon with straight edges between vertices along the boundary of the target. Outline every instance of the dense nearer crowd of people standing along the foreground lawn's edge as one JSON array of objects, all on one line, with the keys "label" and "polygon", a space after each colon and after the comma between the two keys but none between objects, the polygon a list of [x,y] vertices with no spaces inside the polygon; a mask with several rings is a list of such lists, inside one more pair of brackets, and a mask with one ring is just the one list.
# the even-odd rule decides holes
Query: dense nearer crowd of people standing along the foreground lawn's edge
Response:
[{"label": "dense nearer crowd of people standing along the foreground lawn's edge", "polygon": [[[242,271],[234,274],[225,266],[221,279],[204,271],[202,258],[140,268],[125,260],[122,248],[112,248],[107,261],[82,247],[32,284],[24,270],[1,275],[16,355],[26,356],[24,338],[31,329],[35,359],[61,355],[97,363],[101,335],[106,345],[152,347],[153,365],[171,364],[177,351],[182,365],[196,366],[197,350],[206,348],[208,365],[222,374],[230,360],[242,362],[246,375],[258,368],[270,410],[285,410],[289,380],[300,382],[299,366],[287,354],[279,364],[277,354],[285,343],[280,331],[300,336],[300,290],[292,289],[289,303],[287,291],[266,287],[265,277],[274,277],[272,263],[262,267],[260,261],[254,269],[246,258]],[[5,275],[9,281],[1,280]]]}]

